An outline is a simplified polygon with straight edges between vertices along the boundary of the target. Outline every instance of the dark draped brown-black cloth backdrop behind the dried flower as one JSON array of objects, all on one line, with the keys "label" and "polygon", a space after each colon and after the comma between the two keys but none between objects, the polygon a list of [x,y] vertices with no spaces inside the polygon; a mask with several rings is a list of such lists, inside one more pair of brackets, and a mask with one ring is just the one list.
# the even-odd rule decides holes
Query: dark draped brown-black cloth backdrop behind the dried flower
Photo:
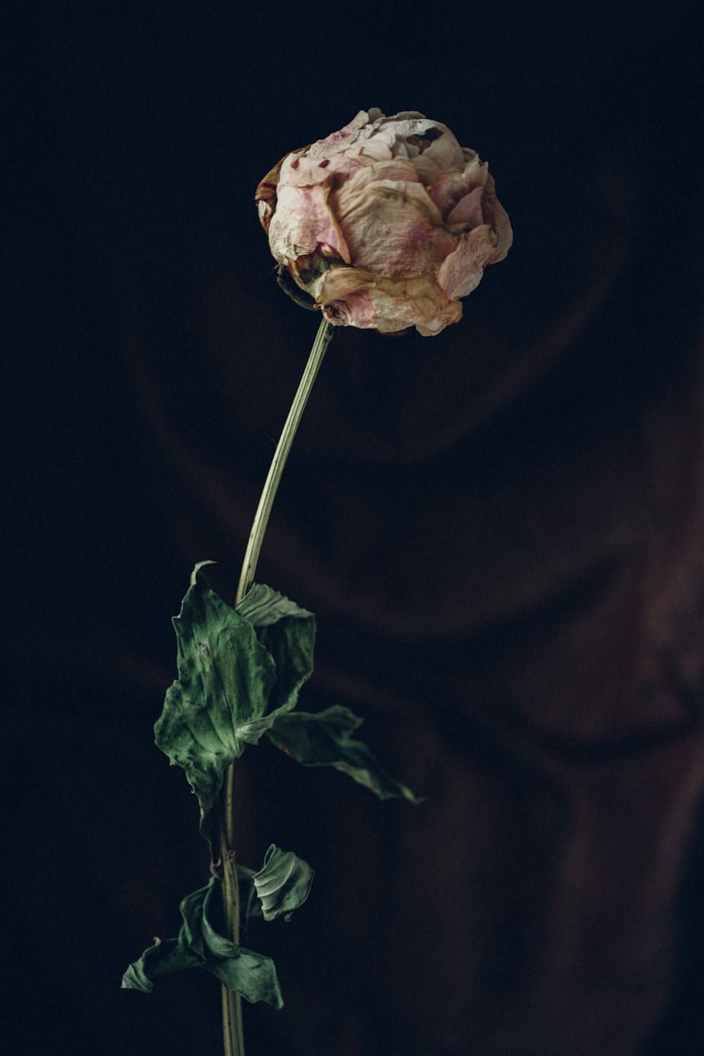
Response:
[{"label": "dark draped brown-black cloth backdrop behind the dried flower", "polygon": [[317,868],[248,1052],[702,1051],[698,6],[11,26],[5,1051],[218,1051],[210,977],[118,988],[207,876],[169,620],[199,560],[232,600],[317,325],[255,185],[370,106],[488,158],[515,245],[435,339],[338,332],[296,441],[260,578],[318,614],[305,704],[429,802],[243,761],[243,857]]}]

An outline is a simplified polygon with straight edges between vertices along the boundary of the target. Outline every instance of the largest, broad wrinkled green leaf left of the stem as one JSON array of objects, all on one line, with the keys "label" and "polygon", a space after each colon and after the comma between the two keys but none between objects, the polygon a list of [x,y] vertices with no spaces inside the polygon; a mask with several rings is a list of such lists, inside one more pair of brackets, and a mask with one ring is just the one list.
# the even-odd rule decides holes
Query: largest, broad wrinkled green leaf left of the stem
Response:
[{"label": "largest, broad wrinkled green leaf left of the stem", "polygon": [[254,739],[247,725],[265,715],[277,676],[250,621],[214,593],[201,567],[173,619],[178,680],[154,733],[158,748],[185,770],[205,815],[225,771]]}]

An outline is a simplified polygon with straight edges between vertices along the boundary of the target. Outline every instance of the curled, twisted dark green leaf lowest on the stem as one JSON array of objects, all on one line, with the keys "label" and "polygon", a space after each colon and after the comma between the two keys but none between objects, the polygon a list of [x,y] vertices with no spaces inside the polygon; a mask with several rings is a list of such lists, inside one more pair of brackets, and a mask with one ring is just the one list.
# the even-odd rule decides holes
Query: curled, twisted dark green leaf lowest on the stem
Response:
[{"label": "curled, twisted dark green leaf lowest on the stem", "polygon": [[146,949],[129,965],[122,987],[150,993],[153,980],[164,973],[203,967],[247,1001],[266,1001],[281,1008],[284,1002],[273,961],[235,946],[221,934],[222,905],[220,881],[213,876],[206,887],[188,894],[180,903],[184,923],[178,938],[157,941]]}]

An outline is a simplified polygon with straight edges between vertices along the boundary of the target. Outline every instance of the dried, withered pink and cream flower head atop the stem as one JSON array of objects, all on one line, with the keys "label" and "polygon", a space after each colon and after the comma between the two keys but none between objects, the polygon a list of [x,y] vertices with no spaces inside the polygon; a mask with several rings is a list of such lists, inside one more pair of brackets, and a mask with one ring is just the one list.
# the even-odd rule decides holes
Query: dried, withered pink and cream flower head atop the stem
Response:
[{"label": "dried, withered pink and cream flower head atop the stem", "polygon": [[416,111],[360,111],[256,189],[269,245],[342,326],[439,334],[513,234],[487,163]]}]

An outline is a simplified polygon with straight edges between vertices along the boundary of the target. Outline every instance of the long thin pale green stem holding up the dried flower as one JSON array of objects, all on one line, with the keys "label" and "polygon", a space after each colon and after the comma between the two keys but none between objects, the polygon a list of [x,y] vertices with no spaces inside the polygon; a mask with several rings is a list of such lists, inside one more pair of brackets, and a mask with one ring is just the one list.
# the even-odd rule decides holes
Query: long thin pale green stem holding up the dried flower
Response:
[{"label": "long thin pale green stem holding up the dried flower", "polygon": [[[323,319],[318,327],[318,334],[310,350],[308,362],[303,372],[298,392],[293,397],[291,409],[288,412],[288,417],[286,418],[277,450],[273,454],[269,473],[264,484],[264,491],[256,508],[254,523],[252,524],[252,530],[245,552],[245,560],[242,565],[235,605],[239,601],[242,601],[254,580],[264,532],[269,522],[269,514],[271,513],[281,475],[284,471],[296,431],[299,428],[301,416],[308,401],[312,383],[316,380],[323,356],[330,343],[332,333],[331,325],[326,319]],[[222,799],[220,852],[223,863],[223,900],[227,935],[235,945],[240,945],[240,885],[237,884],[235,865],[234,817],[232,811],[233,776],[234,768],[230,766],[227,769],[225,795]],[[245,1056],[245,1044],[242,1033],[242,998],[239,994],[233,994],[226,989],[226,987],[223,987],[223,1040],[225,1043],[225,1056]]]}]

